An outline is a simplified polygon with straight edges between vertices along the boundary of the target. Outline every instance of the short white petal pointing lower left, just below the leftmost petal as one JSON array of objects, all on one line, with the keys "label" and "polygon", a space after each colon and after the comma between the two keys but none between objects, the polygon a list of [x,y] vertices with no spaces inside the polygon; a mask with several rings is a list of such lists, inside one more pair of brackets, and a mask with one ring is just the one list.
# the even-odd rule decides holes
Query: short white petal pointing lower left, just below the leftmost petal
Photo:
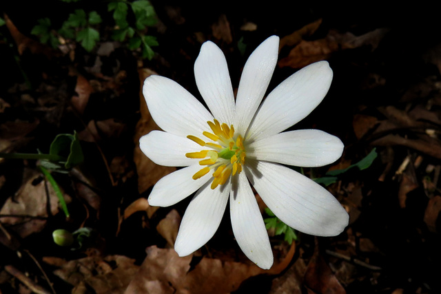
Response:
[{"label": "short white petal pointing lower left, just below the leftmost petal", "polygon": [[208,173],[202,178],[193,180],[192,176],[200,169],[200,165],[190,165],[158,180],[148,198],[149,204],[168,207],[194,193],[212,178],[212,174]]}]

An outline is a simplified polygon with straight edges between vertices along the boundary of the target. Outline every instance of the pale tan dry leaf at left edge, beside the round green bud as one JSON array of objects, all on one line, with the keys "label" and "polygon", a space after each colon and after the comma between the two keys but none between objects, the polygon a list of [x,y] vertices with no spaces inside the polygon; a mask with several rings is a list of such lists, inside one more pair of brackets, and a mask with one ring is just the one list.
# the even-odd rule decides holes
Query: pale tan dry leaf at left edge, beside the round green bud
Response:
[{"label": "pale tan dry leaf at left edge, beside the round green bud", "polygon": [[[59,212],[59,200],[57,194],[48,183],[48,192],[46,193],[45,181],[38,171],[30,170],[29,176],[19,192],[14,197],[10,197],[3,204],[0,214],[11,215],[7,218],[1,218],[3,224],[10,225],[10,229],[15,231],[21,238],[25,238],[31,233],[38,233],[46,224],[45,218],[48,217],[48,199],[50,201],[50,213],[55,215]],[[67,203],[70,202],[70,196],[64,194]],[[32,216],[37,218],[23,218],[14,216]]]}]

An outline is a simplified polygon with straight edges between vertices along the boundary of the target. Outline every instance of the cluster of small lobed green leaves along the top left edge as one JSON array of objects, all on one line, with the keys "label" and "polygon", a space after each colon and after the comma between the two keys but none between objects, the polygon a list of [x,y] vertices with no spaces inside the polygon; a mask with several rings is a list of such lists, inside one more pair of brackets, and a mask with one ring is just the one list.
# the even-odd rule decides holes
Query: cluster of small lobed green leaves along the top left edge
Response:
[{"label": "cluster of small lobed green leaves along the top left edge", "polygon": [[[61,1],[77,2],[81,0]],[[157,46],[158,41],[156,41],[156,37],[145,34],[147,28],[156,23],[156,13],[150,1],[110,1],[107,4],[107,11],[101,13],[112,13],[114,26],[111,36],[114,41],[127,42],[127,48],[130,50],[140,49],[143,58],[152,59],[154,56],[152,47]],[[99,12],[76,9],[69,14],[61,28],[54,28],[48,18],[39,19],[31,34],[38,36],[41,43],[49,44],[53,48],[60,45],[60,40],[74,40],[90,52],[95,48],[96,42],[100,40],[100,32],[107,29],[101,24],[102,17]]]}]

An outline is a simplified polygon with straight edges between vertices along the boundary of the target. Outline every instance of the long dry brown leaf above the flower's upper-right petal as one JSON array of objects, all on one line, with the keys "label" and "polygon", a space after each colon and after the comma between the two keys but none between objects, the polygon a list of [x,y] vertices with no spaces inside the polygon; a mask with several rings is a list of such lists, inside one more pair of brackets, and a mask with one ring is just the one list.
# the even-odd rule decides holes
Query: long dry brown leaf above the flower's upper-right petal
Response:
[{"label": "long dry brown leaf above the flower's upper-right petal", "polygon": [[340,34],[331,31],[323,39],[302,40],[289,52],[287,57],[280,59],[278,65],[280,67],[302,68],[316,61],[328,59],[332,53],[340,50],[359,48],[364,45],[370,45],[374,50],[387,31],[387,29],[377,29],[361,36],[355,36],[349,32]]}]

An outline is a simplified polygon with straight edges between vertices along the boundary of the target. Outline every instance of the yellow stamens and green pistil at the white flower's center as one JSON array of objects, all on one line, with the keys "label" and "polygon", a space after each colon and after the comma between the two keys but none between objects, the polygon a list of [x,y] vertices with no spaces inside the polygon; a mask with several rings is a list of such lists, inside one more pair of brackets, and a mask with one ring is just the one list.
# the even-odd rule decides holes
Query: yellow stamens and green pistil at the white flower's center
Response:
[{"label": "yellow stamens and green pistil at the white flower's center", "polygon": [[[226,123],[220,125],[218,120],[214,122],[207,121],[213,133],[203,132],[202,134],[212,140],[205,142],[195,136],[187,136],[190,140],[198,143],[203,147],[210,147],[209,150],[201,150],[198,152],[190,152],[185,154],[188,158],[200,158],[199,165],[205,166],[193,176],[193,180],[197,180],[205,176],[210,171],[213,172],[214,180],[212,189],[216,189],[218,185],[227,182],[229,176],[234,176],[242,171],[245,163],[245,148],[243,147],[243,138],[240,135],[234,136],[234,127],[228,127]],[[236,138],[235,138],[236,137]]]}]

